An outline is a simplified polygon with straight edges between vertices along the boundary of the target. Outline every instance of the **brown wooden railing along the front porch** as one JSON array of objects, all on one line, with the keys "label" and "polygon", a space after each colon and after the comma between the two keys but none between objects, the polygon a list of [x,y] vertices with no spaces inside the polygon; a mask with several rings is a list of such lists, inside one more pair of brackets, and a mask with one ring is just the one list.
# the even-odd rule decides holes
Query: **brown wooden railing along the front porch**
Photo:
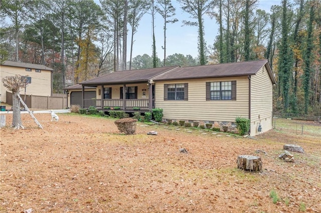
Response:
[{"label": "brown wooden railing along the front porch", "polygon": [[[119,106],[123,108],[125,101],[125,108],[140,107],[142,109],[148,109],[148,99],[103,99],[103,105],[101,99],[84,99],[84,108],[89,106],[95,106],[97,108],[103,108],[104,106],[115,107]],[[154,108],[154,99],[152,99],[152,108]]]}]

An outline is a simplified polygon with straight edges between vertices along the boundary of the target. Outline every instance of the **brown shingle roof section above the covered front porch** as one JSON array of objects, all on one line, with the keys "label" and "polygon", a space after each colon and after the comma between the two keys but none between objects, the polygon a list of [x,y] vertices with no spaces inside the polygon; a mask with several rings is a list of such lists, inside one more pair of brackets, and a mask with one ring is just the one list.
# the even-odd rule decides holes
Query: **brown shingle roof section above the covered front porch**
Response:
[{"label": "brown shingle roof section above the covered front porch", "polygon": [[90,80],[81,82],[82,85],[121,84],[145,82],[159,74],[178,68],[179,66],[165,66],[158,68],[115,71]]}]

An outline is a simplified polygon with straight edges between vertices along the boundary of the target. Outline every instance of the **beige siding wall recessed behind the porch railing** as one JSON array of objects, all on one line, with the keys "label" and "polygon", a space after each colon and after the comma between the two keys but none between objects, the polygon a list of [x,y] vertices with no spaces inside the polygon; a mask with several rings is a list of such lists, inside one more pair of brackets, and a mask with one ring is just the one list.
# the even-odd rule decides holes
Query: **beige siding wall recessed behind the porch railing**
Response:
[{"label": "beige siding wall recessed behind the porch railing", "polygon": [[[119,85],[104,85],[105,87],[111,87],[111,98],[112,99],[119,99],[120,98],[120,87],[122,87],[122,84]],[[148,85],[146,83],[139,83],[139,84],[126,84],[126,86],[137,86],[137,98],[138,99],[148,99]],[[101,86],[97,86],[96,90],[96,96],[97,99],[101,98],[101,95],[99,95],[98,89],[100,89]],[[145,89],[143,91],[143,89]],[[104,92],[104,91],[102,91]],[[145,92],[145,97],[143,97],[143,92]]]}]

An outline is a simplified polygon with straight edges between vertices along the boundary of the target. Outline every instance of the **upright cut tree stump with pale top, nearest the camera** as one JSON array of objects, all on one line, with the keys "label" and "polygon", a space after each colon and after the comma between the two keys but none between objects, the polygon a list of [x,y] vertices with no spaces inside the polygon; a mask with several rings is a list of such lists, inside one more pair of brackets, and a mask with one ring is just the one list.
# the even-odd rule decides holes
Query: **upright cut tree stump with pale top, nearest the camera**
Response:
[{"label": "upright cut tree stump with pale top, nearest the camera", "polygon": [[250,171],[262,171],[262,160],[259,156],[239,155],[237,167]]}]

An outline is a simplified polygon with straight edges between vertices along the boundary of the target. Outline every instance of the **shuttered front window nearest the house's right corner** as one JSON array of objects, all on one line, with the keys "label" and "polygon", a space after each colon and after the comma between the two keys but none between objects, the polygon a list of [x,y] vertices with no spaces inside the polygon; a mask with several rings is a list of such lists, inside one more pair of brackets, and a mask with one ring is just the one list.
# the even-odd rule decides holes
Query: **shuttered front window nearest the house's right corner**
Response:
[{"label": "shuttered front window nearest the house's right corner", "polygon": [[236,100],[236,80],[206,82],[206,100]]}]

